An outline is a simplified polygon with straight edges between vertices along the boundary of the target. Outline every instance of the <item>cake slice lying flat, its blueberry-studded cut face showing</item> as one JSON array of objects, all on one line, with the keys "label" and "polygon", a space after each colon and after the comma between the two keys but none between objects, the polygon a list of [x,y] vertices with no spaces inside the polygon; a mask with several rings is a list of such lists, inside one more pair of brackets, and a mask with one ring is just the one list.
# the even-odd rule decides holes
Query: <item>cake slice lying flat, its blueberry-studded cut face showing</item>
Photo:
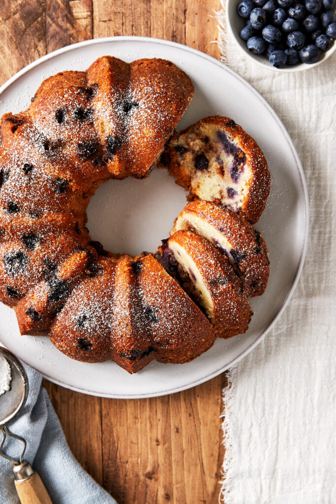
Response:
[{"label": "cake slice lying flat, its blueberry-studded cut face showing", "polygon": [[221,203],[256,222],[270,194],[270,172],[256,142],[228,117],[215,115],[175,134],[161,165],[191,199]]}]

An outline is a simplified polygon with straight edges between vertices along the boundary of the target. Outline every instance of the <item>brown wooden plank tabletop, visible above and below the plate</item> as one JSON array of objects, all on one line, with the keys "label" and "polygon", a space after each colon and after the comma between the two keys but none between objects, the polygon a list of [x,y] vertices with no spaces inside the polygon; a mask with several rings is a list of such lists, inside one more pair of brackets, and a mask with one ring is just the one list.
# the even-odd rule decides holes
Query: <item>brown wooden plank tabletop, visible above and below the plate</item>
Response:
[{"label": "brown wooden plank tabletop, visible above and below the plate", "polygon": [[[47,52],[112,35],[173,40],[219,57],[219,9],[220,0],[2,0],[1,84]],[[44,386],[75,457],[119,504],[215,504],[224,382],[128,401]]]}]

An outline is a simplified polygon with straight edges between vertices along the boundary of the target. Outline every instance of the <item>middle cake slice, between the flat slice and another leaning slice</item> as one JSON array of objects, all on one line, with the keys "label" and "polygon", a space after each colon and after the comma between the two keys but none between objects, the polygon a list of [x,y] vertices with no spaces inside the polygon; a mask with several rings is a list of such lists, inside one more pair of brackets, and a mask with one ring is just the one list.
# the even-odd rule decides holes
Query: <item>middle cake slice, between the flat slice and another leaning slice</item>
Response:
[{"label": "middle cake slice, between the flat slice and another leaning slice", "polygon": [[267,246],[241,215],[219,204],[195,200],[182,210],[171,231],[190,230],[216,245],[244,279],[247,296],[259,296],[270,275]]}]

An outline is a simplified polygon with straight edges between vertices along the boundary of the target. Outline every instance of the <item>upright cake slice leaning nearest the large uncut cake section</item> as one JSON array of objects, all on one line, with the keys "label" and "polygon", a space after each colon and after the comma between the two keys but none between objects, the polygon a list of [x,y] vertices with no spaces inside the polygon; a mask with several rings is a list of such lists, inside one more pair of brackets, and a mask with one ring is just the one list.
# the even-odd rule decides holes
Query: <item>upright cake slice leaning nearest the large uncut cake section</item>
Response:
[{"label": "upright cake slice leaning nearest the large uncut cake section", "polygon": [[191,231],[177,231],[160,247],[158,259],[204,308],[216,336],[247,330],[251,310],[243,282],[214,245]]}]

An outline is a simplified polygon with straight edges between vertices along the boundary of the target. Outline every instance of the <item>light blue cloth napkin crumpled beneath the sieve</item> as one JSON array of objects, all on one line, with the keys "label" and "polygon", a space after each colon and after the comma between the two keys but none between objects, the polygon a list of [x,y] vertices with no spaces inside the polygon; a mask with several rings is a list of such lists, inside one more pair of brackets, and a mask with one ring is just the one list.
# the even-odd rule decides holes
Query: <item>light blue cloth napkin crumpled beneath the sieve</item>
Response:
[{"label": "light blue cloth napkin crumpled beneath the sieve", "polygon": [[[53,504],[116,504],[71,453],[48,394],[41,388],[41,375],[28,366],[25,366],[25,370],[29,381],[28,399],[19,417],[8,427],[14,434],[26,439],[24,459],[39,473]],[[16,459],[22,447],[21,442],[7,437],[3,450]],[[2,504],[20,504],[12,467],[9,460],[0,457]]]}]

